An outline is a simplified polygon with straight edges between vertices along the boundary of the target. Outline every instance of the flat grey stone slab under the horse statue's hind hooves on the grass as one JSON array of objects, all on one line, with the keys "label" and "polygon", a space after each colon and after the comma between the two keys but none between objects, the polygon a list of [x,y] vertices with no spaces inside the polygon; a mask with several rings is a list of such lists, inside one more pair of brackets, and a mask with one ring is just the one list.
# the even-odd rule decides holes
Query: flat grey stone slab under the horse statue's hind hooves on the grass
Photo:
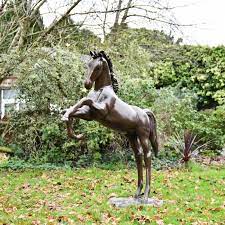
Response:
[{"label": "flat grey stone slab under the horse statue's hind hooves on the grass", "polygon": [[159,207],[163,205],[163,200],[148,198],[145,200],[143,198],[110,198],[109,203],[118,208],[124,208],[132,205],[149,205]]}]

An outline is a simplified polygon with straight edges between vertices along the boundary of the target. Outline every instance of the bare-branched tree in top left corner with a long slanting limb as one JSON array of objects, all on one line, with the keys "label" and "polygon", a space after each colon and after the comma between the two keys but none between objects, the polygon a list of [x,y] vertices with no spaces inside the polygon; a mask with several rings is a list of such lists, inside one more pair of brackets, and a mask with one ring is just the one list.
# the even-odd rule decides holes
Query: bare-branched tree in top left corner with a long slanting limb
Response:
[{"label": "bare-branched tree in top left corner with a long slanting limb", "polygon": [[45,28],[40,8],[47,0],[4,0],[0,4],[0,50],[22,50],[40,43],[54,28],[67,19],[70,12],[81,2],[71,3],[69,8]]}]

